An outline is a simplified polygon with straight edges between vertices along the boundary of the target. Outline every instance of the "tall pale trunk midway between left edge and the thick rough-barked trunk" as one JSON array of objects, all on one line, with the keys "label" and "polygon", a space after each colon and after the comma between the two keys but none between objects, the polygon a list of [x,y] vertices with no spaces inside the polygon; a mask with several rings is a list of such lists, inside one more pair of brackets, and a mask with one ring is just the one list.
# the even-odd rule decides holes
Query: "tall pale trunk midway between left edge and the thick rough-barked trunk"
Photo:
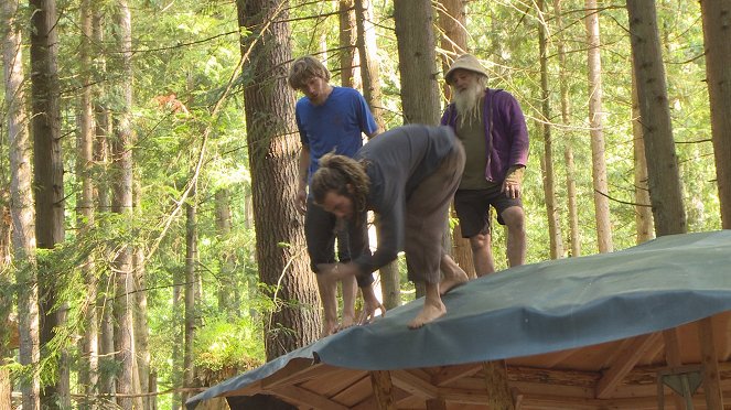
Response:
[{"label": "tall pale trunk midway between left edge and the thick rough-barked trunk", "polygon": [[[119,112],[116,117],[115,134],[112,141],[112,203],[111,211],[123,218],[132,218],[132,39],[131,39],[131,13],[126,0],[119,0],[116,10],[116,43],[119,46],[119,66],[121,67],[120,80],[117,87],[121,97]],[[116,336],[116,359],[120,365],[117,379],[117,392],[125,395],[118,400],[123,410],[131,410],[136,400],[127,397],[139,392],[135,380],[136,352],[135,352],[135,274],[131,244],[117,244],[117,252],[114,261],[116,271],[116,303],[115,316],[119,334]],[[141,404],[140,404],[141,406]]]}]

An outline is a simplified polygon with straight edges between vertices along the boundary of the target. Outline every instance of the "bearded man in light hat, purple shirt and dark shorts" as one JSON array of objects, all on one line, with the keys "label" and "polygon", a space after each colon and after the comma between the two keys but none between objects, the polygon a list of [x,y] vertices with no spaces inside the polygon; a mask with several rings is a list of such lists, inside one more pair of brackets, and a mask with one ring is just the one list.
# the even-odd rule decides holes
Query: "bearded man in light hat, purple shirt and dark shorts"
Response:
[{"label": "bearded man in light hat, purple shirt and dark shorts", "polygon": [[486,87],[487,72],[473,55],[454,61],[444,78],[452,104],[441,123],[464,144],[466,161],[454,195],[462,236],[470,239],[477,276],[495,271],[490,207],[507,227],[507,260],[525,263],[525,213],[520,194],[528,162],[528,129],[520,105],[509,93]]}]

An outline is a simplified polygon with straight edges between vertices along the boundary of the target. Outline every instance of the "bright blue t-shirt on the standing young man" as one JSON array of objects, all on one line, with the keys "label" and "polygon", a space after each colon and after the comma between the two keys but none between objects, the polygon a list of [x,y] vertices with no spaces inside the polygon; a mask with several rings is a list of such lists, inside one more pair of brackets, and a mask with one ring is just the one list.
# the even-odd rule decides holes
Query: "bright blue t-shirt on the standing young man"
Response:
[{"label": "bright blue t-shirt on the standing young man", "polygon": [[353,157],[363,147],[362,132],[373,134],[378,130],[365,98],[353,88],[333,86],[321,106],[302,97],[294,112],[300,141],[310,147],[308,181],[318,171],[322,155],[334,149],[337,154]]}]

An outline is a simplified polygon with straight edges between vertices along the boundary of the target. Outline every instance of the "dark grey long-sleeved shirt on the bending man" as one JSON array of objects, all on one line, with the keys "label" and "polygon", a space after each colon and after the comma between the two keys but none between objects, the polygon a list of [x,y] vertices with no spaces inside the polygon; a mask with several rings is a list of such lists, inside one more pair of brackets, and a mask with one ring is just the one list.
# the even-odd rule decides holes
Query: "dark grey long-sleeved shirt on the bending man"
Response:
[{"label": "dark grey long-sleeved shirt on the bending man", "polygon": [[354,260],[363,274],[378,270],[404,249],[406,204],[456,141],[448,127],[409,125],[375,137],[355,154],[356,160],[367,163],[370,179],[367,206],[378,218],[376,251]]}]

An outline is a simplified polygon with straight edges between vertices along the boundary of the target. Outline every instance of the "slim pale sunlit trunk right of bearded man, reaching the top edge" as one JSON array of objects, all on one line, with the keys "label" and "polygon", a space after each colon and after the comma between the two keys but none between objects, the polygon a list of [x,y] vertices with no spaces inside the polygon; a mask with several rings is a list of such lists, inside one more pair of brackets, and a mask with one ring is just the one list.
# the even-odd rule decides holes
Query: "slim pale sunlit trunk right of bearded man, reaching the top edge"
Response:
[{"label": "slim pale sunlit trunk right of bearded man, reaching the top edge", "polygon": [[610,220],[606,162],[604,160],[604,133],[602,131],[602,61],[599,39],[599,9],[596,0],[587,0],[588,66],[589,66],[589,125],[591,127],[591,170],[596,217],[596,244],[599,251],[611,252],[612,223]]}]

